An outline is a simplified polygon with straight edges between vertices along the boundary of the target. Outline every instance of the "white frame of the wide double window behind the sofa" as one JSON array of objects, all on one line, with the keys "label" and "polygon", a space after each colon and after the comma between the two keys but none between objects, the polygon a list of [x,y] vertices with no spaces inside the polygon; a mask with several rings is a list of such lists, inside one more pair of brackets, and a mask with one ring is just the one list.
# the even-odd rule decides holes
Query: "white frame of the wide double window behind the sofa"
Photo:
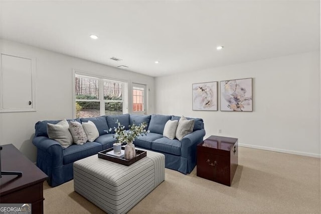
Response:
[{"label": "white frame of the wide double window behind the sofa", "polygon": [[[78,76],[84,76],[84,77],[89,77],[89,78],[95,78],[95,79],[98,79],[98,99],[76,99],[76,75]],[[122,100],[112,100],[112,101],[115,101],[115,102],[122,102],[123,105],[122,105],[122,112],[123,114],[126,114],[128,113],[128,104],[129,104],[129,100],[128,100],[128,81],[127,80],[122,80],[122,79],[115,79],[115,78],[111,78],[111,77],[108,77],[108,76],[100,76],[100,75],[97,75],[97,74],[93,74],[93,73],[90,73],[90,72],[85,72],[85,71],[81,71],[81,70],[78,70],[78,69],[73,69],[73,117],[76,118],[76,101],[97,101],[100,103],[100,116],[105,116],[105,103],[106,101],[108,102],[111,102],[110,100],[105,100],[104,99],[104,84],[103,82],[104,81],[113,81],[113,82],[119,82],[119,83],[125,83],[123,84],[123,88],[122,88]],[[125,100],[127,98],[127,100]]]}]

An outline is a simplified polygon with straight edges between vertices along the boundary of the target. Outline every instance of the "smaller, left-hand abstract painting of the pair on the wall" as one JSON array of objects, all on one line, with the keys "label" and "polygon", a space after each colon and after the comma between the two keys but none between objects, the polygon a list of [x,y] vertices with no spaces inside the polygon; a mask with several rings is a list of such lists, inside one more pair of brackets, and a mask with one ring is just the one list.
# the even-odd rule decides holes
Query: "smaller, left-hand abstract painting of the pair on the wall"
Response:
[{"label": "smaller, left-hand abstract painting of the pair on the wall", "polygon": [[193,111],[217,111],[218,82],[202,82],[192,84]]}]

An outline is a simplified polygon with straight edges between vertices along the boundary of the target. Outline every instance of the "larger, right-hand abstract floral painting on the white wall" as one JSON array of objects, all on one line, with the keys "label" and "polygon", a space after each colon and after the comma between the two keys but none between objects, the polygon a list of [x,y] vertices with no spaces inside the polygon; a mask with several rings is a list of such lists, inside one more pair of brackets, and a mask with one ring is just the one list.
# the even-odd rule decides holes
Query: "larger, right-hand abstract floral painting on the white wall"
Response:
[{"label": "larger, right-hand abstract floral painting on the white wall", "polygon": [[220,82],[222,112],[252,112],[252,78],[232,79]]}]

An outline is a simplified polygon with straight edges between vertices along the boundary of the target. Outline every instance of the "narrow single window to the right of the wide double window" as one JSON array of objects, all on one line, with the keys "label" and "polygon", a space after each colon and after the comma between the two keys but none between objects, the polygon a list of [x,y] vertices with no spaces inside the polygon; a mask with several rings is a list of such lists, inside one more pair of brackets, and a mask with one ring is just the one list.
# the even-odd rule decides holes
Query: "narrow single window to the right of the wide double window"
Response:
[{"label": "narrow single window to the right of the wide double window", "polygon": [[145,88],[146,85],[133,83],[132,87],[132,111],[134,113],[146,113],[145,108]]}]

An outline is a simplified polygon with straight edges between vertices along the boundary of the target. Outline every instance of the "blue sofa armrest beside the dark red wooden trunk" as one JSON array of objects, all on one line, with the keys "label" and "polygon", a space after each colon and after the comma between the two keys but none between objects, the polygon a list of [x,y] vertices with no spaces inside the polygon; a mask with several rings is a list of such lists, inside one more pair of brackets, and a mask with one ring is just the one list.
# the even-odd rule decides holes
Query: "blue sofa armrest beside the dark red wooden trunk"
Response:
[{"label": "blue sofa armrest beside the dark red wooden trunk", "polygon": [[197,130],[182,138],[181,156],[188,158],[196,155],[196,146],[203,141],[205,130]]}]

